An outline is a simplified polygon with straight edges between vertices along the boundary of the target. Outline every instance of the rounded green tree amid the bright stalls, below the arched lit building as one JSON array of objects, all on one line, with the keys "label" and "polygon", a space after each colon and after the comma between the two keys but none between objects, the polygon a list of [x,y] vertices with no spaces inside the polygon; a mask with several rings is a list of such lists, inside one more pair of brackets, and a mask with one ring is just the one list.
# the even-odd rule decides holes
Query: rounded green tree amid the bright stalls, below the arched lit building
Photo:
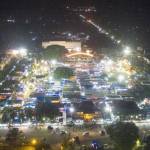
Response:
[{"label": "rounded green tree amid the bright stalls, below the arched lit building", "polygon": [[69,79],[74,76],[74,71],[72,68],[68,67],[58,67],[54,71],[54,78],[60,80],[62,78]]}]

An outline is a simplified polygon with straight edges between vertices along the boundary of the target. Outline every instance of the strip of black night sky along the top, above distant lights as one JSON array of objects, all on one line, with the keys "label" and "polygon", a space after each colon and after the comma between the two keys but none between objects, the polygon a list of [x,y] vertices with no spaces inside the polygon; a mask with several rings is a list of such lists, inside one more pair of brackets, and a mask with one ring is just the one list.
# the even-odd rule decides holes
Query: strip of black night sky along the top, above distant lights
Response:
[{"label": "strip of black night sky along the top, above distant lights", "polygon": [[[1,8],[39,8],[47,6],[58,6],[63,3],[73,4],[73,5],[108,5],[112,4],[116,7],[122,5],[130,5],[133,7],[143,7],[147,8],[150,5],[149,0],[1,0]],[[57,4],[57,5],[55,5]],[[104,6],[105,7],[105,6]]]}]

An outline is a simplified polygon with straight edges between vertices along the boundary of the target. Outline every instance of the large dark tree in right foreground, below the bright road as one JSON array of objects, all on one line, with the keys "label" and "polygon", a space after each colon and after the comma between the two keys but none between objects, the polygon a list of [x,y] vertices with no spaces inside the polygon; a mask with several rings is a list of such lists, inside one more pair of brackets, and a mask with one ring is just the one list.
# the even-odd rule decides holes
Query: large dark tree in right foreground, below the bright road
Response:
[{"label": "large dark tree in right foreground, below the bright road", "polygon": [[133,123],[118,122],[108,126],[107,132],[117,150],[132,150],[139,137],[139,129]]}]

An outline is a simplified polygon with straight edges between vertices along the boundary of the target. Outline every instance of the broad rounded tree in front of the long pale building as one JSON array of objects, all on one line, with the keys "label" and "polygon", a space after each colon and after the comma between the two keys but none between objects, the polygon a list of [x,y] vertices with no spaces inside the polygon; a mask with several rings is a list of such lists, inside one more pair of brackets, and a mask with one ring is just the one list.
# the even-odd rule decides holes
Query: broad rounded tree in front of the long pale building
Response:
[{"label": "broad rounded tree in front of the long pale building", "polygon": [[43,57],[47,60],[52,59],[61,59],[61,57],[67,52],[67,49],[64,46],[52,45],[48,46],[43,50]]}]

